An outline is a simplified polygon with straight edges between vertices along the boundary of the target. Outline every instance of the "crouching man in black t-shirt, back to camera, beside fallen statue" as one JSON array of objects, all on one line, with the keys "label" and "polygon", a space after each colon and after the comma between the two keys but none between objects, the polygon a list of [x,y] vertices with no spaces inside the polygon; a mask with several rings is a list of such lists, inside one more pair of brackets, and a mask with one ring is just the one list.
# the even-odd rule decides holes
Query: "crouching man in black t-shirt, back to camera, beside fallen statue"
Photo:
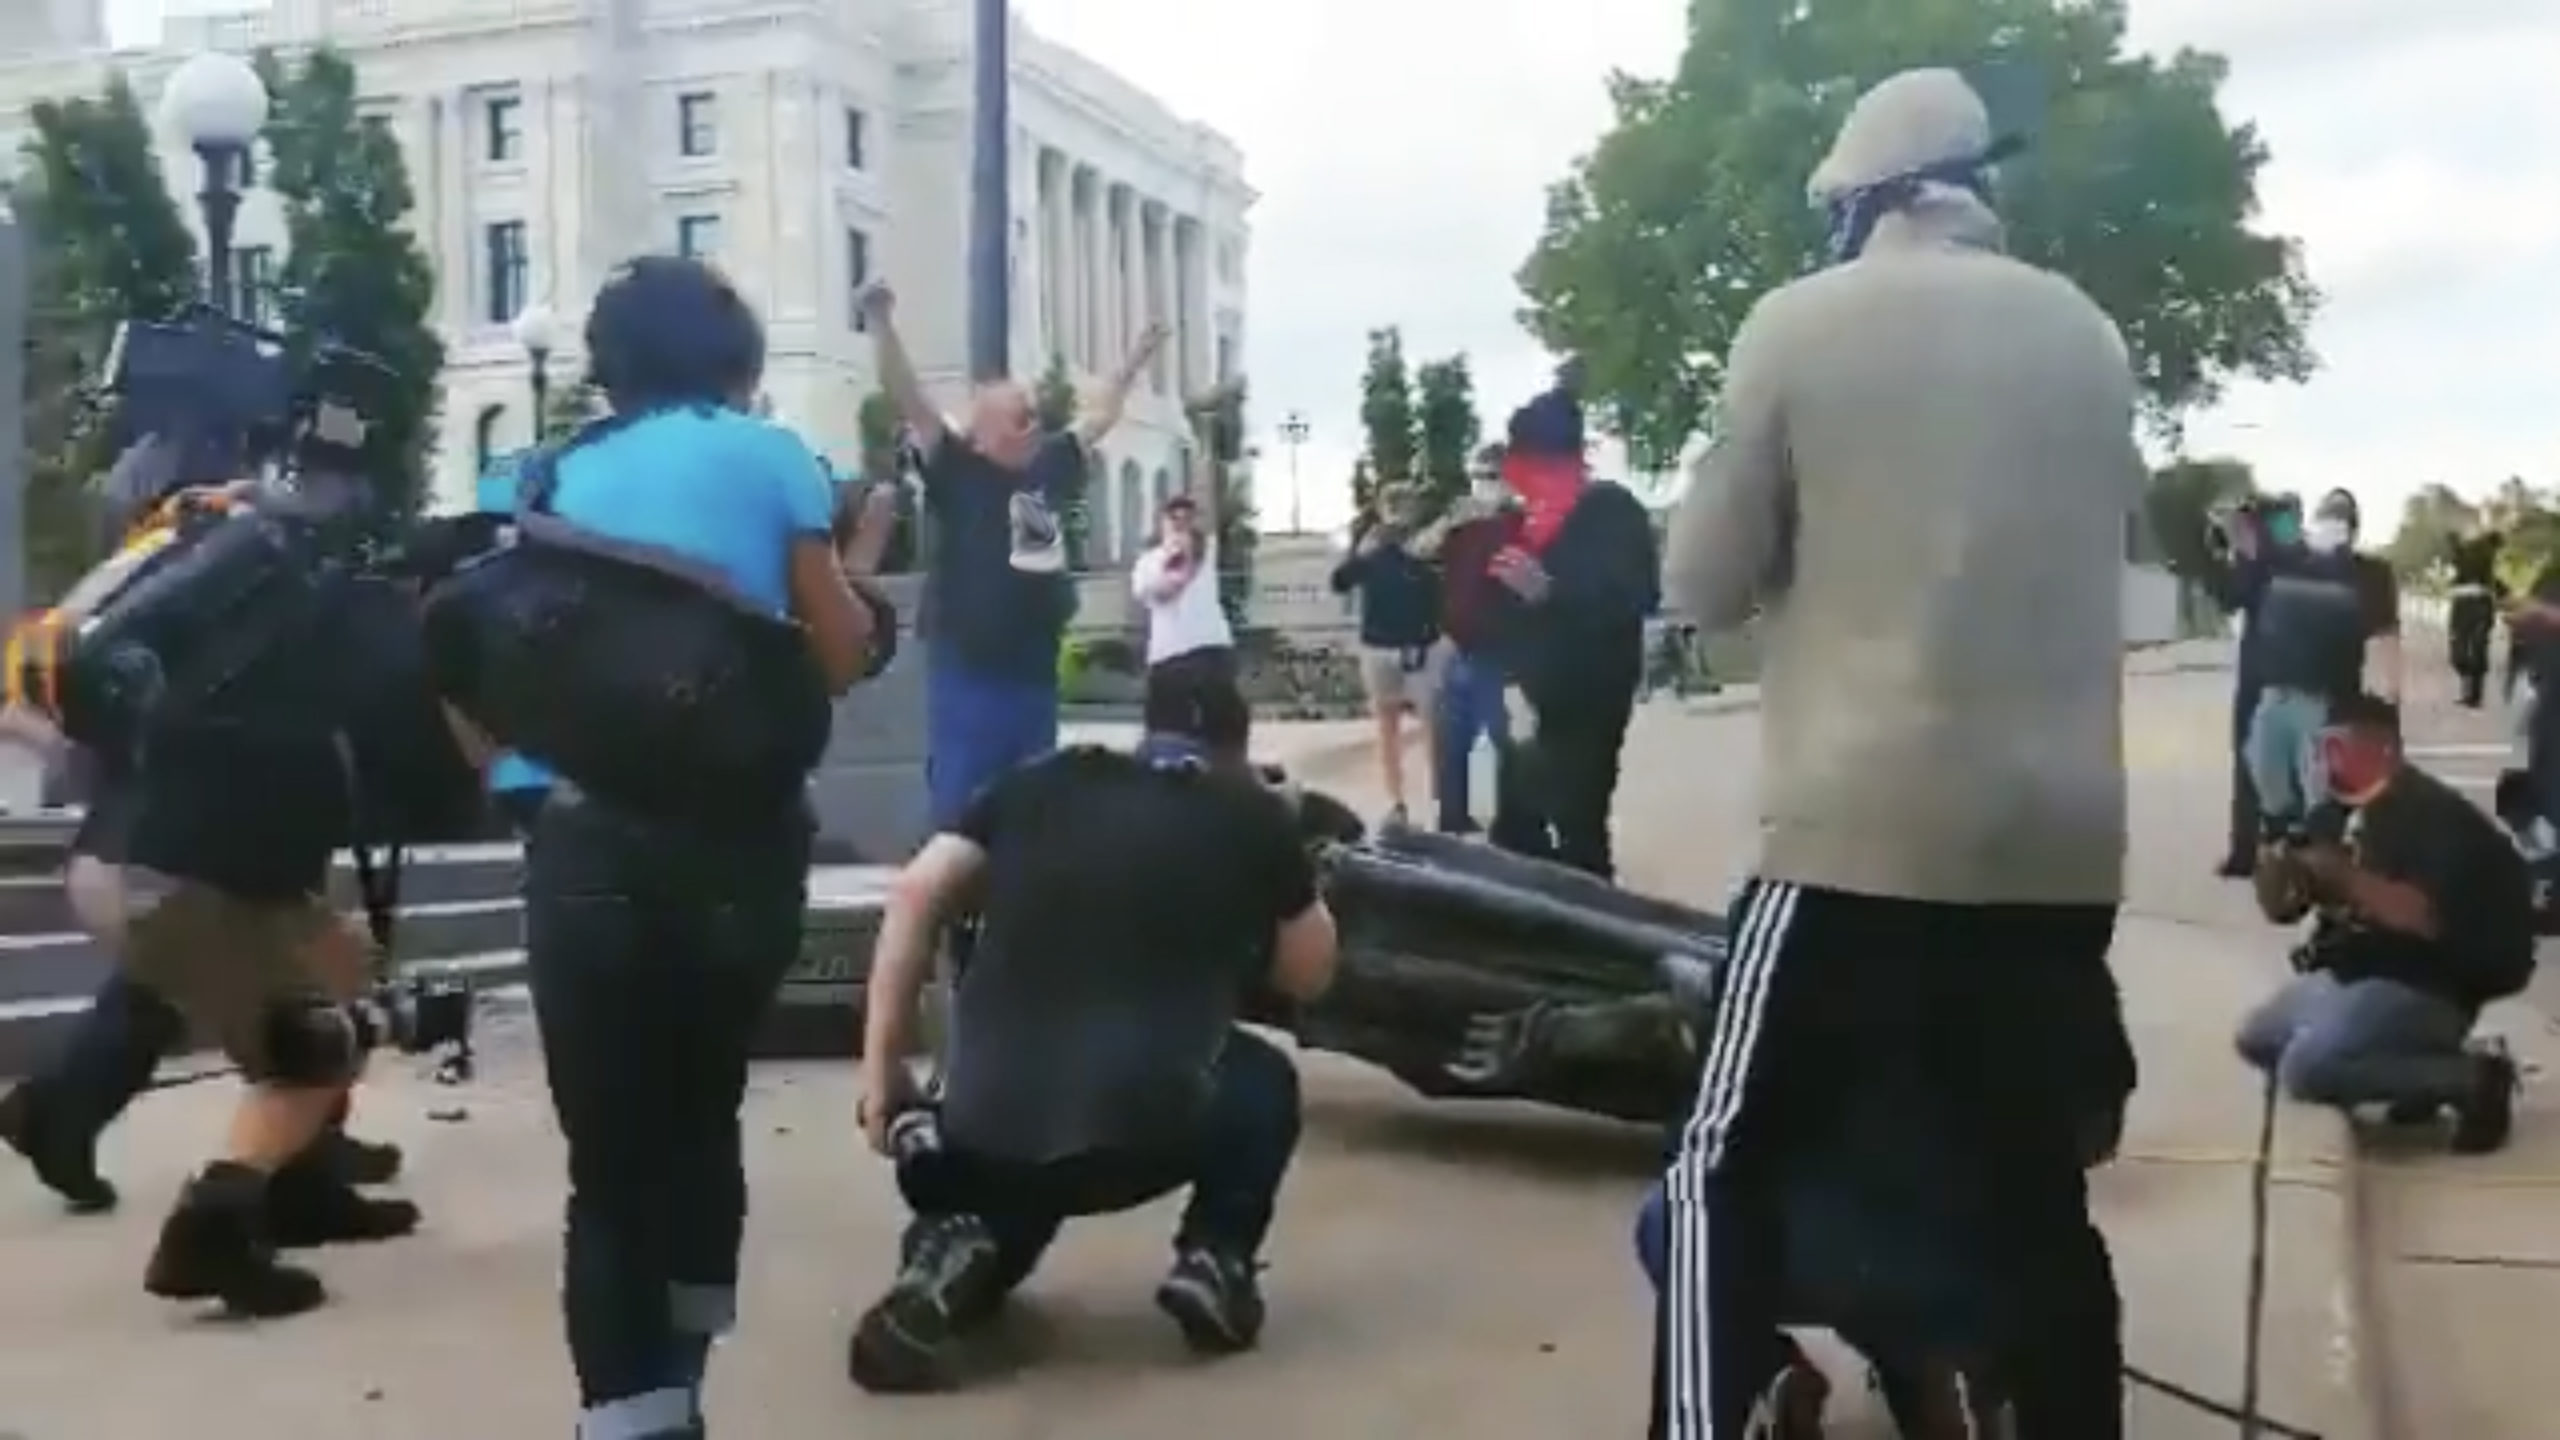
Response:
[{"label": "crouching man in black t-shirt, back to camera, beside fallen statue", "polygon": [[[1244,766],[1234,679],[1160,666],[1144,720],[1134,756],[1070,748],[998,779],[891,892],[860,1122],[914,1222],[852,1335],[863,1389],[957,1384],[955,1345],[1060,1225],[1183,1186],[1157,1307],[1201,1353],[1262,1332],[1254,1263],[1298,1145],[1298,1071],[1236,1017],[1249,992],[1331,984],[1334,917],[1298,817]],[[980,933],[924,1109],[904,1066],[916,994],[970,902]]]}]

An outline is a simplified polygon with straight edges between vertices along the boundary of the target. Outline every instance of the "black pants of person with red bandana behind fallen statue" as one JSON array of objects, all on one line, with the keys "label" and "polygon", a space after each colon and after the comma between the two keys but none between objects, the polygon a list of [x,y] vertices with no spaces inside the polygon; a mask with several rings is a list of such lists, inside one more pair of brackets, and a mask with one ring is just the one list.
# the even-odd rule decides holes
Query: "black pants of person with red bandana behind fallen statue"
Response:
[{"label": "black pants of person with red bandana behind fallen statue", "polygon": [[1536,735],[1500,748],[1492,843],[1613,879],[1608,817],[1633,717],[1633,684],[1539,705]]}]

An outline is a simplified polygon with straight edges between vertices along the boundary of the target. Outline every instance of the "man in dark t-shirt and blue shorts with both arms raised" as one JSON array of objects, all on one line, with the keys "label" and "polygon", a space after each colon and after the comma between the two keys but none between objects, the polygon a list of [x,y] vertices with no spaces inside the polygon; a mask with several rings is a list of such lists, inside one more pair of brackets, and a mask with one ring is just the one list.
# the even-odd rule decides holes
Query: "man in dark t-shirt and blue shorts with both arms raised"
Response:
[{"label": "man in dark t-shirt and blue shorts with both arms raised", "polygon": [[1044,438],[1032,395],[1014,382],[980,384],[968,428],[952,430],[906,359],[888,287],[873,287],[863,313],[881,387],[924,456],[934,520],[919,615],[932,641],[924,781],[932,822],[947,830],[991,779],[1057,748],[1057,648],[1075,612],[1057,512],[1073,505],[1085,451],[1119,423],[1165,328],[1147,328],[1075,428]]}]

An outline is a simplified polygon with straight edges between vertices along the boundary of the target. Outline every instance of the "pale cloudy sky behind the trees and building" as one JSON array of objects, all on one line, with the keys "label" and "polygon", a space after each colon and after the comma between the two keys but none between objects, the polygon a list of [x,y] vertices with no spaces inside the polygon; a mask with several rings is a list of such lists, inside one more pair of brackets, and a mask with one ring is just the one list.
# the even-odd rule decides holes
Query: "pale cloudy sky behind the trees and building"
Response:
[{"label": "pale cloudy sky behind the trees and building", "polygon": [[[192,3],[192,0],[187,0]],[[1039,31],[1242,146],[1254,210],[1254,415],[1311,423],[1311,523],[1344,510],[1364,333],[1467,351],[1487,423],[1536,389],[1510,272],[1544,187],[1605,123],[1610,67],[1677,61],[1682,0],[1016,0]],[[108,0],[148,38],[161,0]],[[200,8],[200,5],[197,5]],[[2348,484],[2376,520],[2417,484],[2560,484],[2560,5],[2552,0],[2135,0],[2143,46],[2232,61],[2225,105],[2276,161],[2268,220],[2330,300],[2304,387],[2243,387],[2194,451],[2268,484]],[[1265,438],[1265,515],[1288,466]]]}]

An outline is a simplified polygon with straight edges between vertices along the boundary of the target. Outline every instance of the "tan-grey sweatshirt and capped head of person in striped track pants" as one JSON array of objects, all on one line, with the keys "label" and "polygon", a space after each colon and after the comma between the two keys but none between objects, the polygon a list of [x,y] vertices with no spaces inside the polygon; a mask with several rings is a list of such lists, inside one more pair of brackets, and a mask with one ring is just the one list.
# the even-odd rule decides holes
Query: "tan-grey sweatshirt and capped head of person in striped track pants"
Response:
[{"label": "tan-grey sweatshirt and capped head of person in striped track pants", "polygon": [[[1812,192],[1989,141],[1964,79],[1905,72],[1856,105]],[[1761,876],[2122,897],[2132,423],[2117,328],[2004,256],[1961,184],[1923,184],[1859,259],[1754,307],[1664,589],[1710,633],[1761,615]]]}]

